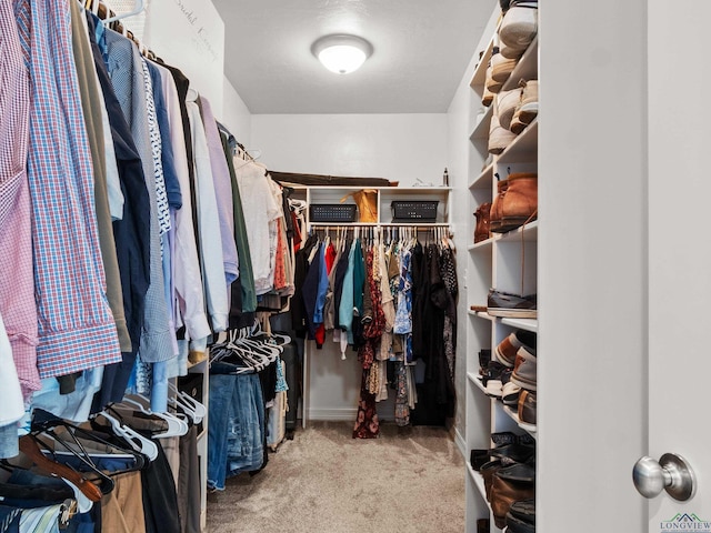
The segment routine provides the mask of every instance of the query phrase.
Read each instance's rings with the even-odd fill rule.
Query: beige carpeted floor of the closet
[[[357,440],[350,422],[312,422],[254,476],[208,495],[210,533],[464,531],[464,467],[448,432],[382,424]]]

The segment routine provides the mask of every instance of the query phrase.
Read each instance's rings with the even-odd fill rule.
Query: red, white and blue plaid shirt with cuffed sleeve
[[[14,0],[30,71],[32,202],[40,378],[121,361],[97,235],[91,153],[66,0]]]

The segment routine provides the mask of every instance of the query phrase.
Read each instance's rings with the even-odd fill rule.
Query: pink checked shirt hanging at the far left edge
[[[0,275],[0,314],[22,392],[29,395],[40,388],[27,175],[30,78],[11,2],[0,2],[0,270],[6,273]]]

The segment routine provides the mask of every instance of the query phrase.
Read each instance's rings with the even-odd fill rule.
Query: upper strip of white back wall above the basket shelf
[[[254,114],[251,148],[281,172],[439,185],[447,114]]]

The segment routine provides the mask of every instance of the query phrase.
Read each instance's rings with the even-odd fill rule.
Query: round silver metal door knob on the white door
[[[659,461],[642,457],[634,463],[632,479],[644,497],[655,497],[662,490],[680,502],[693,496],[695,479],[689,463],[675,453],[665,453]]]

